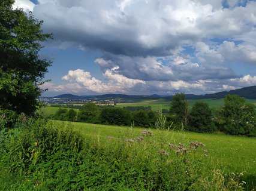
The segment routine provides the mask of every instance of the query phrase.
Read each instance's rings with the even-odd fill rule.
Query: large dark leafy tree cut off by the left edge
[[[50,61],[39,58],[40,42],[52,35],[32,13],[13,10],[14,0],[0,2],[0,109],[32,115],[38,108],[39,85]]]

